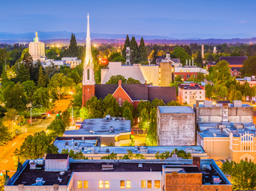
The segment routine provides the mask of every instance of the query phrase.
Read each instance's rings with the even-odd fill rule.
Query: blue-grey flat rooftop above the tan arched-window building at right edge
[[[219,129],[217,125],[220,125]],[[198,128],[200,129],[199,134],[201,137],[229,137],[230,133],[233,134],[233,137],[240,137],[246,132],[255,136],[256,133],[255,125],[250,122],[242,124],[233,124],[230,122],[198,124]]]

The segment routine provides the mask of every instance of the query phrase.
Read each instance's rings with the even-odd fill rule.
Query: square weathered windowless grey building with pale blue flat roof
[[[157,107],[157,143],[160,146],[195,145],[196,113],[189,106]]]

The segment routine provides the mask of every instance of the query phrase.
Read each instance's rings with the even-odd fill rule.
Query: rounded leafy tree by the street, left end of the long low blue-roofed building
[[[45,131],[35,133],[33,136],[29,135],[25,138],[20,149],[15,153],[23,159],[37,159],[42,158],[48,148],[48,145],[52,142],[52,138],[49,137]]]

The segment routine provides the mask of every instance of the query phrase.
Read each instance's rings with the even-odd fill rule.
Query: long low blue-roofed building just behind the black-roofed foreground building
[[[207,153],[201,146],[107,146],[99,144],[101,137],[57,137],[54,145],[59,148],[59,152],[63,149],[73,150],[74,153],[82,152],[85,157],[100,159],[109,153],[116,153],[117,158],[122,158],[128,154],[128,150],[133,152],[134,158],[136,154],[142,154],[145,159],[155,159],[156,153],[173,152],[174,149],[182,150],[190,153],[192,157],[208,158]]]

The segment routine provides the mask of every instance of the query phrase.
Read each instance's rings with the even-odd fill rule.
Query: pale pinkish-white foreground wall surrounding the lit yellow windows
[[[154,188],[154,181],[161,180],[161,172],[136,172],[134,169],[133,172],[76,172],[74,173],[74,191],[81,189],[77,188],[78,180],[87,180],[88,189],[86,190],[103,190],[99,189],[99,180],[109,180],[109,189],[108,190],[148,190],[147,188],[142,188],[142,180],[152,180],[152,189],[160,191],[161,188]],[[120,189],[120,180],[131,181],[131,188],[122,188]],[[105,185],[104,185],[105,189]]]

